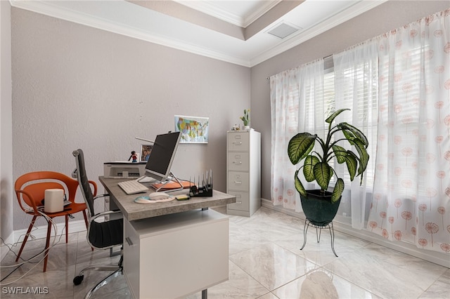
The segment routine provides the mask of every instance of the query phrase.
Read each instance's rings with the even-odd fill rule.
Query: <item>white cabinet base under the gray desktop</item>
[[[124,221],[124,275],[135,298],[180,298],[229,279],[229,218],[190,215],[197,219],[178,225],[173,215],[149,219],[150,230]]]

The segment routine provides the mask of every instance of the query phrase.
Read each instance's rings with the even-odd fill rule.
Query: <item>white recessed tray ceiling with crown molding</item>
[[[252,67],[387,0],[10,1],[18,8]],[[269,34],[282,24],[297,30],[283,39]]]

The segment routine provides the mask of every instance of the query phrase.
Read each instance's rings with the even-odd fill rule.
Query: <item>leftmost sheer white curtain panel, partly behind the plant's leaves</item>
[[[323,60],[276,74],[270,78],[270,86],[271,200],[274,205],[302,211],[294,187],[296,166],[290,163],[288,143],[296,133],[314,130],[314,115],[323,115],[323,105],[316,107],[314,102],[315,98],[323,99]]]

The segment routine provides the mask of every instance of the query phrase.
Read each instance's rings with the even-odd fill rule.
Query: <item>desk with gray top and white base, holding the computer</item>
[[[136,204],[120,179],[99,180],[124,214],[124,276],[134,298],[181,298],[229,279],[229,218],[209,209],[236,197]]]

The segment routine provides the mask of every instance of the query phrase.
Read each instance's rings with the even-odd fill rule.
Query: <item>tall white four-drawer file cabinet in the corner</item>
[[[236,196],[226,213],[250,217],[261,206],[261,133],[226,134],[226,193]]]

